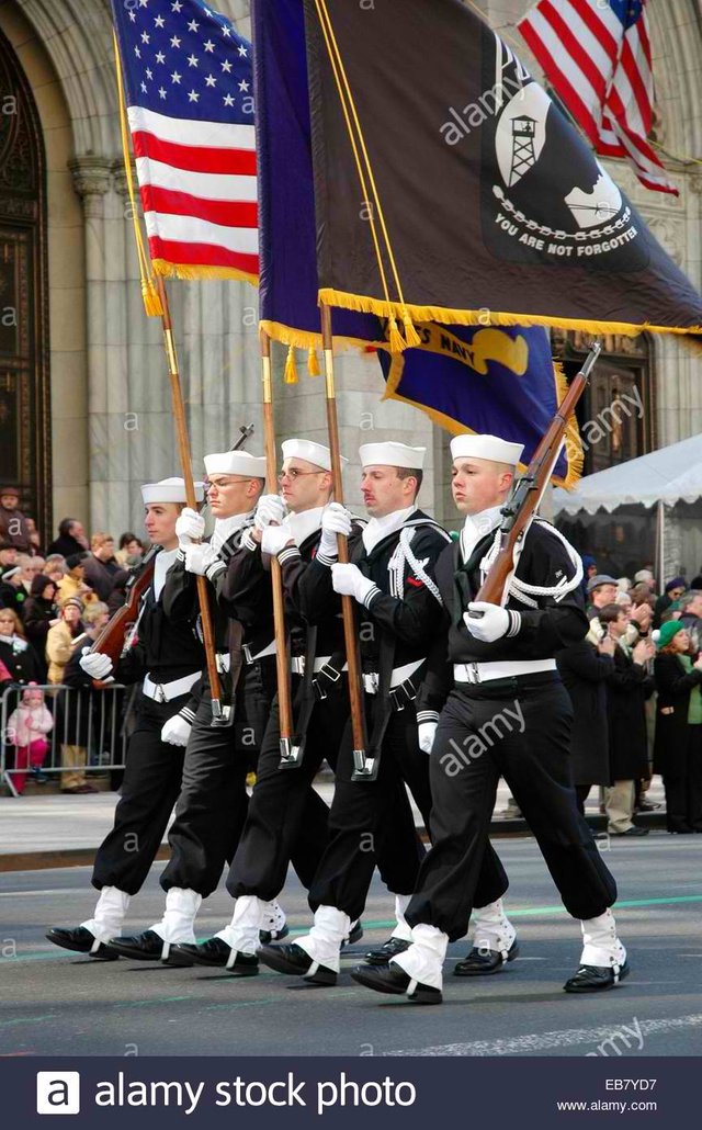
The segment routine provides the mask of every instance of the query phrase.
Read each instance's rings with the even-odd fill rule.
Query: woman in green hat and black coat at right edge
[[[692,660],[679,620],[666,620],[653,640],[653,768],[664,779],[668,832],[702,832],[702,653]]]

